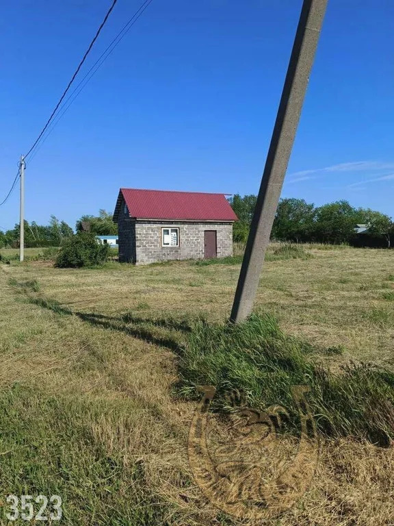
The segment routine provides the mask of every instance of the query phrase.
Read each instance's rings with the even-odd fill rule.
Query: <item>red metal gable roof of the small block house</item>
[[[237,221],[225,194],[120,188],[114,213],[117,221],[122,196],[131,217],[187,221]]]

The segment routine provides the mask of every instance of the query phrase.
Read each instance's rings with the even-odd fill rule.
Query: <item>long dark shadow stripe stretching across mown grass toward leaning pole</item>
[[[169,331],[188,332],[191,331],[191,327],[187,321],[177,321],[172,318],[142,318],[140,316],[133,316],[131,313],[122,314],[120,316],[107,316],[106,314],[96,314],[94,312],[79,312],[64,307],[59,302],[53,299],[44,299],[42,297],[34,298],[28,296],[29,303],[38,305],[41,308],[45,308],[55,312],[56,314],[66,316],[77,316],[82,321],[95,325],[96,327],[102,327],[103,329],[109,329],[114,331],[124,332],[133,338],[144,340],[160,347],[166,347],[176,351],[179,348],[179,340],[170,335],[159,336],[154,334],[155,328],[168,329]],[[137,325],[133,327],[127,325]],[[144,327],[146,325],[146,327]]]

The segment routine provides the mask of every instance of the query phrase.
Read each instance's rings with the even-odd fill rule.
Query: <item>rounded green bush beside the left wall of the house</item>
[[[94,234],[79,232],[62,243],[55,260],[59,268],[102,265],[109,257],[109,245],[101,245]]]

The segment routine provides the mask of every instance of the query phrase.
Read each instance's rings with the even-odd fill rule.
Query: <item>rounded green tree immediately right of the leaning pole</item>
[[[315,206],[304,199],[280,199],[272,238],[296,242],[308,240],[313,231],[315,213]]]

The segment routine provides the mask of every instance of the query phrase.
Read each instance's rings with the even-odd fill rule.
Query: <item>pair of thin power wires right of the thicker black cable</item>
[[[33,155],[31,156],[30,161],[34,158],[34,156],[36,155],[36,153],[38,152],[40,147],[44,144],[44,142],[47,140],[49,135],[53,132],[53,129],[55,128],[57,123],[60,121],[62,116],[66,113],[68,108],[70,108],[70,105],[73,104],[75,99],[77,99],[79,93],[81,93],[83,88],[85,88],[86,84],[88,84],[90,79],[96,74],[96,72],[99,70],[99,68],[101,68],[101,66],[103,65],[105,60],[107,60],[107,58],[112,53],[112,51],[114,51],[116,46],[118,46],[118,44],[120,44],[121,40],[124,38],[124,36],[127,35],[129,30],[131,29],[131,27],[133,27],[135,22],[137,22],[138,18],[140,18],[140,16],[144,13],[146,8],[148,8],[148,5],[150,5],[150,3],[152,3],[152,1],[153,0],[145,0],[142,3],[142,5],[140,5],[140,8],[138,8],[137,11],[133,14],[133,16],[131,16],[129,21],[127,21],[127,23],[122,27],[120,32],[116,35],[116,37],[109,43],[109,45],[106,47],[106,49],[103,51],[103,53],[101,53],[101,55],[96,60],[96,62],[94,62],[94,64],[89,69],[89,71],[86,73],[86,75],[83,77],[83,79],[81,79],[81,81],[77,84],[77,86],[75,86],[73,92],[71,92],[70,95],[68,95],[67,99],[62,103],[62,106],[60,108],[60,110],[64,109],[64,111],[62,113],[60,113],[60,115],[57,114],[57,118],[55,119],[55,121],[51,122],[51,124],[49,125],[48,129],[46,130],[46,133],[42,134],[43,136],[41,136],[36,141],[36,143],[35,143],[36,150],[34,151]],[[92,73],[92,74],[90,75],[90,73]],[[79,86],[81,86],[81,88],[78,90]],[[68,101],[70,101],[70,103],[67,105]],[[31,150],[32,149],[34,149],[34,147],[32,147]]]

